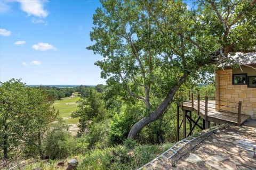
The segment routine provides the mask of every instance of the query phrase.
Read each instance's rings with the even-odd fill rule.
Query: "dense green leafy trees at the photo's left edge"
[[[13,150],[17,147],[25,148],[25,154],[42,156],[41,140],[58,116],[51,107],[53,100],[43,89],[26,87],[14,79],[2,83],[0,94],[0,146],[4,158],[17,154]],[[28,147],[31,145],[36,147]]]

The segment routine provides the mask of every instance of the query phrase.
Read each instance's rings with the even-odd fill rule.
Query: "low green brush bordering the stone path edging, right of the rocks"
[[[171,143],[167,143],[137,145],[132,150],[125,146],[95,149],[83,155],[84,158],[78,169],[137,169],[171,146]]]

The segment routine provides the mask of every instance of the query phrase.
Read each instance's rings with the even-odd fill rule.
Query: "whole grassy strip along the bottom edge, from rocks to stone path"
[[[137,145],[133,149],[129,149],[124,145],[119,145],[104,149],[94,149],[87,151],[85,154],[74,154],[73,156],[77,156],[79,163],[77,170],[130,170],[137,169],[142,165],[145,165],[172,146],[173,143],[164,143],[162,145]],[[36,167],[42,167],[45,170],[64,170],[67,167],[68,160],[73,159],[73,156],[69,156],[66,159],[38,160],[37,162],[27,165],[24,169],[28,170]],[[65,166],[63,168],[57,168],[55,166],[59,161],[65,162]]]

